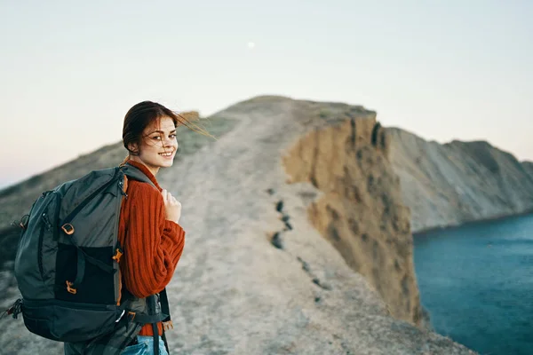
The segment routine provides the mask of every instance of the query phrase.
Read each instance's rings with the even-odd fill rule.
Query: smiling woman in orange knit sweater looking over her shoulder
[[[160,293],[171,281],[183,252],[185,232],[179,225],[181,203],[155,178],[160,168],[172,166],[178,150],[176,128],[181,124],[210,136],[185,117],[155,102],[140,102],[124,117],[123,146],[129,154],[121,165],[140,170],[152,184],[129,178],[124,187],[126,198],[123,199],[118,227],[118,241],[123,246],[119,263],[123,302],[144,301],[148,296]],[[147,303],[144,303],[145,307]],[[135,313],[132,314],[135,317]],[[162,335],[163,328],[169,327],[171,322],[133,327],[133,331],[139,333],[133,341],[125,342],[128,344],[122,354],[159,352],[166,355]],[[159,336],[154,336],[155,331]],[[111,342],[116,337],[109,336]],[[93,351],[114,353],[107,345],[98,349]],[[76,344],[65,343],[65,353],[83,352],[76,350]]]

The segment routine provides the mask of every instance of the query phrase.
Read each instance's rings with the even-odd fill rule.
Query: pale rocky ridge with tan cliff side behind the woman
[[[182,202],[187,230],[168,288],[174,352],[471,353],[415,326],[410,215],[375,113],[259,97],[210,122],[220,138],[179,131],[180,145],[192,148],[158,175]],[[20,214],[46,186],[123,154],[109,146],[58,168],[53,182],[13,186],[0,193],[0,207]],[[12,280],[5,283],[3,304],[17,296]],[[20,320],[3,326],[7,353],[60,353],[59,343],[31,335]]]

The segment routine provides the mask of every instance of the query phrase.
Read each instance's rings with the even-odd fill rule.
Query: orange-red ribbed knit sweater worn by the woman
[[[161,292],[171,281],[183,251],[185,232],[165,219],[162,188],[155,176],[139,162],[128,163],[141,170],[159,190],[129,179],[118,225],[118,241],[124,250],[121,280],[133,296],[144,298]],[[161,322],[157,327],[162,335]],[[139,335],[154,335],[152,325],[142,327]]]

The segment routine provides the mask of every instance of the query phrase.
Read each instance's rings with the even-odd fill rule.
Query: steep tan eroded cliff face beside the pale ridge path
[[[375,114],[348,112],[299,139],[283,162],[291,182],[321,192],[308,210],[312,225],[370,281],[394,317],[418,324],[410,214],[388,151]]]

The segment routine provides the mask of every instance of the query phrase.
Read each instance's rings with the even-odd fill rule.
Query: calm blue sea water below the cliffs
[[[414,236],[434,330],[481,354],[533,354],[533,215]]]

